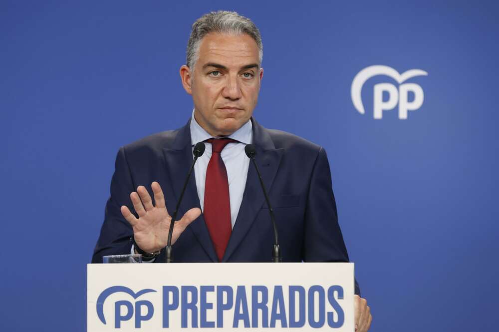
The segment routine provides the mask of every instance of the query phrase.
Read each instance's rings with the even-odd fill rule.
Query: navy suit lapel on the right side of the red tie
[[[260,170],[265,188],[267,192],[270,192],[284,149],[275,149],[266,129],[260,126],[253,118],[251,120],[253,122],[253,144],[256,149],[255,161]],[[227,262],[241,241],[243,241],[264,201],[265,196],[260,187],[258,174],[254,169],[253,163],[250,162],[243,202],[241,203],[238,218],[222,262]],[[270,261],[270,248],[268,252],[268,260]]]

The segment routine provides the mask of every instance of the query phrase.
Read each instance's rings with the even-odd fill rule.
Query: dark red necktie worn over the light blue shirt
[[[206,141],[212,144],[212,157],[206,169],[203,215],[219,261],[222,261],[231,237],[232,223],[229,180],[220,153],[227,144],[237,141],[230,138],[210,138]]]

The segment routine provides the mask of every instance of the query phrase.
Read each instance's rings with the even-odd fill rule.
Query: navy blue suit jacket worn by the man
[[[303,138],[269,130],[254,118],[253,144],[256,162],[274,209],[283,262],[348,262],[331,187],[326,152]],[[120,207],[132,212],[130,193],[143,185],[151,196],[151,183],[163,189],[167,209],[173,213],[192,163],[189,122],[178,130],[165,131],[121,147],[116,157],[105,219],[92,263],[102,256],[128,254],[132,227]],[[200,207],[193,173],[179,216]],[[222,262],[270,262],[272,223],[253,165],[229,244]],[[164,250],[156,262],[164,262]],[[203,215],[192,222],[173,245],[175,262],[218,262]],[[356,283],[356,293],[359,293]]]

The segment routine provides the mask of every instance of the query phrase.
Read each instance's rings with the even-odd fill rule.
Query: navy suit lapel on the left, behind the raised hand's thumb
[[[179,130],[172,147],[163,149],[163,154],[165,156],[165,165],[170,177],[173,193],[175,195],[175,199],[178,201],[184,186],[187,172],[189,171],[189,167],[191,167],[193,160],[190,121],[186,126]],[[174,212],[173,209],[175,208],[175,205],[172,206],[172,211],[168,211],[170,214],[173,214]],[[182,199],[182,203],[179,207],[177,220],[182,218],[184,213],[186,213],[189,209],[195,207],[201,208],[201,204],[199,203],[198,190],[196,189],[196,178],[193,171],[191,178],[189,179],[189,183],[187,184],[184,198]],[[201,216],[193,221],[187,228],[194,233],[211,260],[218,262],[217,254],[215,253],[203,214],[201,214]]]

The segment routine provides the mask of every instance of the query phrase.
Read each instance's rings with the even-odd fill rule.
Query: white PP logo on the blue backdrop
[[[352,102],[360,114],[365,114],[362,104],[362,86],[371,77],[377,75],[386,75],[395,79],[400,85],[398,88],[391,83],[379,83],[374,85],[374,118],[381,119],[383,111],[393,109],[399,105],[399,119],[407,119],[408,111],[417,110],[423,105],[425,94],[421,86],[415,83],[404,83],[409,78],[415,76],[426,76],[428,73],[421,69],[411,69],[402,74],[397,70],[383,65],[374,65],[362,69],[355,75],[350,90]],[[404,83],[404,84],[402,84]],[[383,92],[388,92],[388,100],[383,101]],[[414,100],[409,101],[409,92],[414,93]]]

